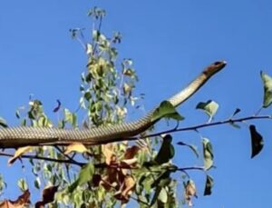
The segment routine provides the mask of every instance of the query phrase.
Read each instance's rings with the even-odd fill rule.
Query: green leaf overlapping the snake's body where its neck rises
[[[163,101],[160,103],[160,106],[155,109],[152,114],[151,122],[156,122],[161,118],[171,118],[177,121],[181,121],[184,119],[174,108],[169,101]]]

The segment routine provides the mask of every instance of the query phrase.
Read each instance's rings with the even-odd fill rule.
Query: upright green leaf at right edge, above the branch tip
[[[272,77],[260,72],[264,84],[263,107],[267,108],[272,103]]]

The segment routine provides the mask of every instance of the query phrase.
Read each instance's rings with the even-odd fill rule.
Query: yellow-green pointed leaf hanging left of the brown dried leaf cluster
[[[76,189],[77,186],[81,186],[84,183],[87,183],[90,180],[92,180],[93,173],[94,173],[93,163],[87,163],[86,165],[84,165],[81,172],[79,173],[77,180],[75,180],[75,182],[73,182],[68,187],[69,193],[73,193],[73,190]]]

